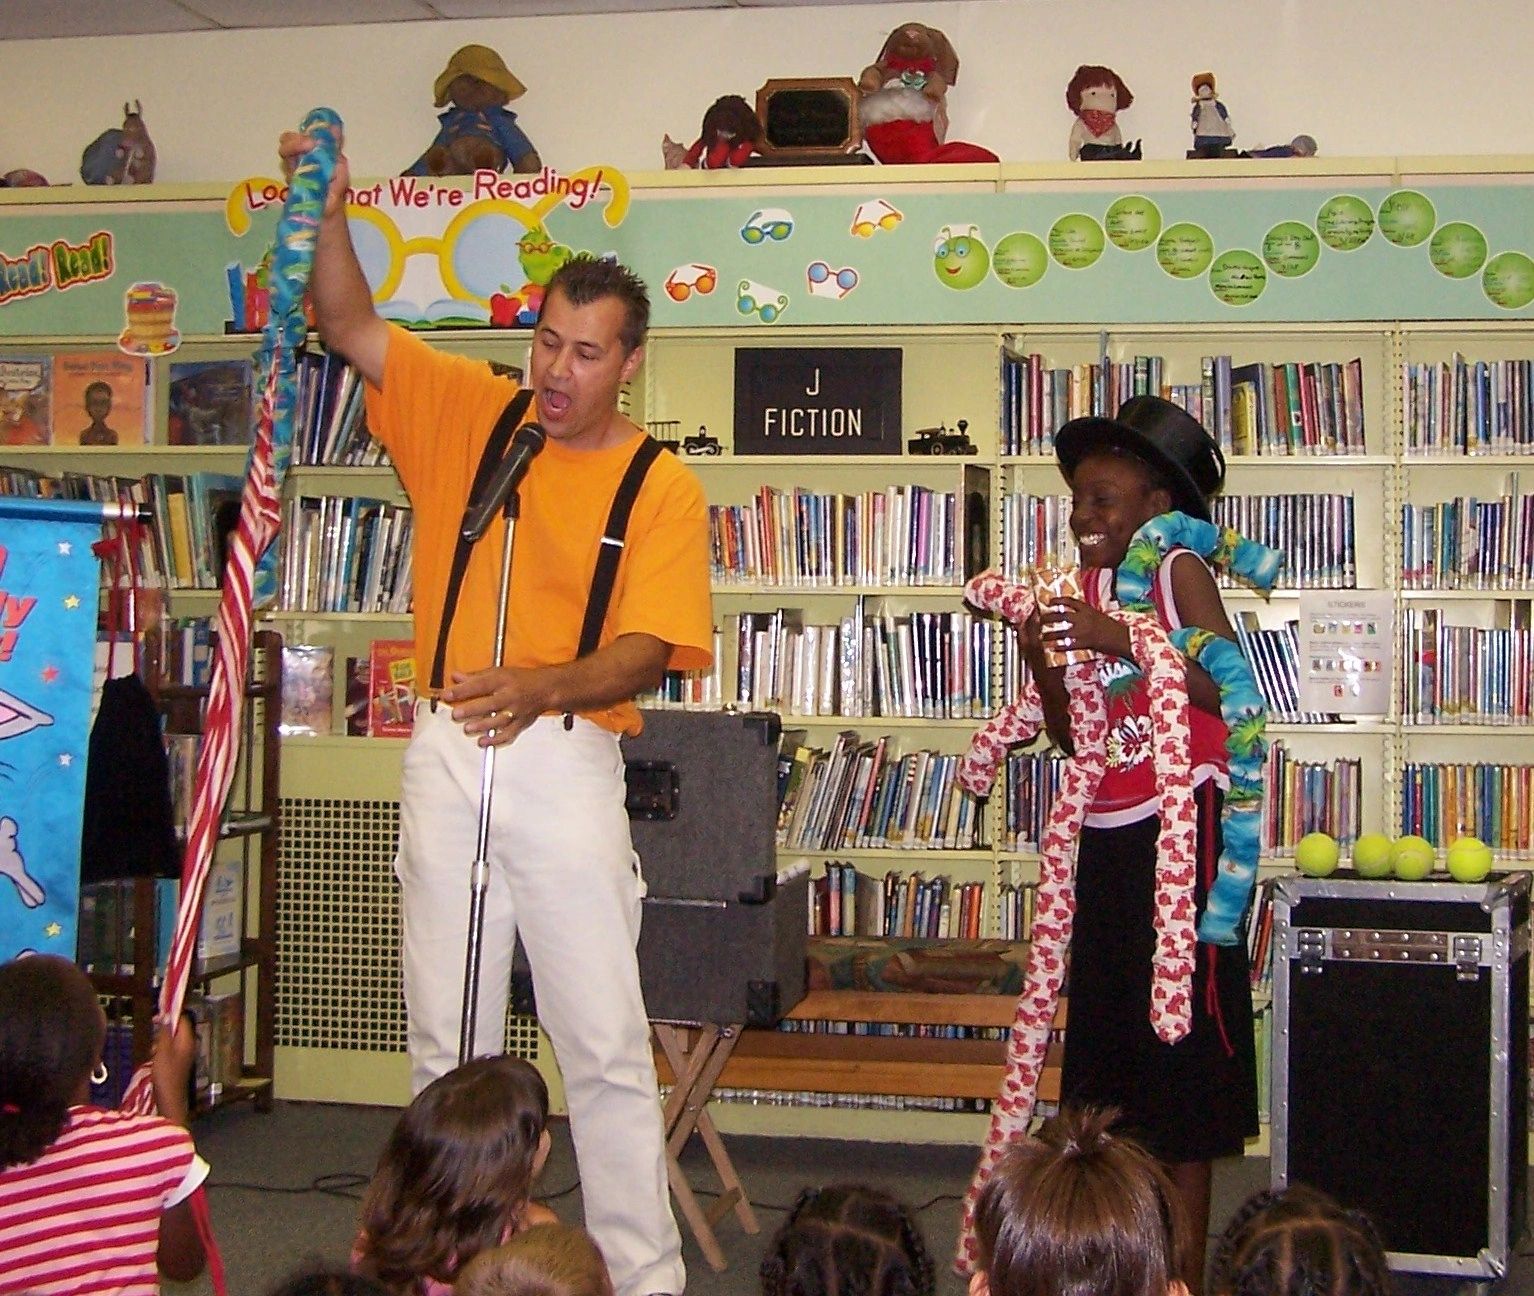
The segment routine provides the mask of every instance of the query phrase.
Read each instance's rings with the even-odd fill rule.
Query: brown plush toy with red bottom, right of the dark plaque
[[[948,140],[948,87],[959,55],[937,28],[905,23],[858,78],[864,143],[881,163],[994,163],[989,149]]]

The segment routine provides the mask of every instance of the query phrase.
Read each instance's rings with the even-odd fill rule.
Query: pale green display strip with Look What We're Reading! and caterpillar
[[[1083,167],[1035,184],[927,170],[632,193],[600,166],[397,176],[353,189],[348,218],[379,310],[420,330],[528,327],[574,253],[637,270],[669,328],[1534,317],[1526,175],[1140,181]],[[281,196],[252,178],[176,210],[6,206],[0,331],[109,334],[147,354],[253,333]]]

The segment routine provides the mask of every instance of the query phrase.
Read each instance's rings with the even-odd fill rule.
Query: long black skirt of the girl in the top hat
[[[1203,914],[1220,857],[1223,796],[1210,781],[1195,801]],[[1081,831],[1062,1098],[1120,1107],[1120,1129],[1161,1161],[1210,1161],[1241,1153],[1258,1132],[1252,982],[1244,945],[1198,942],[1192,1031],[1175,1044],[1157,1038],[1150,954],[1160,827],[1152,814]]]

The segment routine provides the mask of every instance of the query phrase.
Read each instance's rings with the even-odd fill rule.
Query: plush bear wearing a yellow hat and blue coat
[[[502,57],[485,44],[465,44],[448,60],[433,87],[437,107],[451,103],[437,121],[437,138],[405,175],[472,175],[477,170],[535,172],[538,150],[517,126],[506,104],[526,94]]]

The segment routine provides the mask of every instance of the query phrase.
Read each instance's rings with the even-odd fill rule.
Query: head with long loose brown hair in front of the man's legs
[[[549,1150],[548,1115],[543,1077],[522,1058],[477,1058],[422,1089],[362,1199],[359,1271],[414,1290],[506,1241]]]

